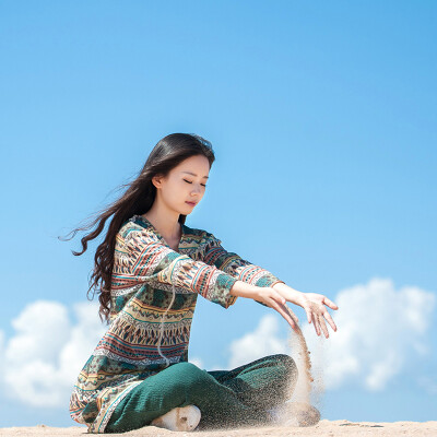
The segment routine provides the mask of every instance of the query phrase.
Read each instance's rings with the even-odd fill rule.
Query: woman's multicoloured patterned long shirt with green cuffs
[[[188,362],[198,295],[228,308],[237,299],[229,291],[238,280],[260,287],[283,282],[221,243],[182,224],[175,251],[142,215],[122,224],[116,236],[109,328],[70,398],[71,417],[86,424],[88,433],[104,433],[117,404],[145,378]]]

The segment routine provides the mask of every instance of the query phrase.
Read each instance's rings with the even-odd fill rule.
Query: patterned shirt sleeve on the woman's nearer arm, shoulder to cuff
[[[179,286],[224,308],[235,303],[237,296],[229,292],[237,279],[215,265],[172,250],[152,232],[130,232],[126,245],[131,256],[130,271],[135,281],[157,281]]]

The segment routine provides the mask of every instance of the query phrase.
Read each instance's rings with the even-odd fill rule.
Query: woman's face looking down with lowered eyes
[[[210,162],[203,155],[190,156],[173,168],[167,177],[155,176],[156,197],[165,206],[188,215],[205,192]]]

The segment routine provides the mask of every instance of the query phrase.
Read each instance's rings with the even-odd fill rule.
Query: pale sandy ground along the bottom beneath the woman
[[[34,437],[34,436],[83,436],[86,426],[71,426],[56,428],[46,425],[31,427],[0,428],[1,437]],[[347,422],[347,421],[327,421],[322,420],[317,425],[310,427],[286,427],[286,426],[265,426],[257,428],[238,428],[224,430],[202,430],[191,433],[178,433],[155,426],[145,426],[140,429],[123,434],[108,434],[110,436],[202,436],[202,437],[256,437],[256,436],[437,436],[437,422],[393,422],[393,423],[373,423],[373,422]]]

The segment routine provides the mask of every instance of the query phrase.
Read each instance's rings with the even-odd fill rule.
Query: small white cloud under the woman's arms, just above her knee
[[[241,366],[265,355],[287,353],[286,340],[279,339],[277,331],[277,317],[273,314],[263,316],[253,332],[231,343],[227,368]]]

